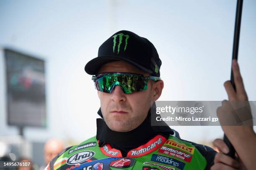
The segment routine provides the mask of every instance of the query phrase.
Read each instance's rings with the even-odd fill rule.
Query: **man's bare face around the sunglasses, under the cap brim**
[[[100,68],[104,72],[131,72],[150,76],[132,65],[123,62],[108,62]],[[103,118],[111,130],[128,132],[137,128],[147,117],[148,110],[154,102],[154,82],[148,81],[147,90],[125,94],[119,85],[112,93],[98,91]]]

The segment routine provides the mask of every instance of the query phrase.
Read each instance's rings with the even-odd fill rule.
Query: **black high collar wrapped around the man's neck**
[[[156,105],[154,103],[151,109],[155,108]],[[166,139],[168,139],[169,135],[174,135],[174,131],[165,122],[161,126],[151,126],[151,109],[141,125],[129,132],[116,132],[108,128],[99,109],[98,115],[102,117],[102,119],[97,119],[96,138],[99,140],[99,146],[109,143],[112,148],[120,150],[123,157],[125,157],[129,150],[138,148],[158,134],[163,135]]]

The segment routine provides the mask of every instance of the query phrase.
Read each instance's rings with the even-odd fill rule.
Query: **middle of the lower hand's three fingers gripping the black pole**
[[[240,164],[237,160],[225,155],[224,153],[217,153],[214,158],[214,163],[224,163],[225,165],[229,165],[233,168],[239,168]]]

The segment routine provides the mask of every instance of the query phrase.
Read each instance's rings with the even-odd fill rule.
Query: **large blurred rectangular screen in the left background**
[[[4,49],[8,125],[46,127],[44,60]]]

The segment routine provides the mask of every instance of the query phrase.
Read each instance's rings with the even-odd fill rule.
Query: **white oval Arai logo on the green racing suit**
[[[93,151],[88,151],[88,150],[76,153],[76,154],[72,155],[67,160],[67,164],[74,165],[74,164],[77,164],[77,163],[82,163],[85,160],[88,160],[88,159],[92,158],[93,155],[95,155],[95,153]]]

